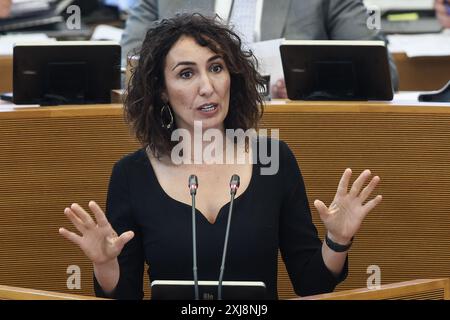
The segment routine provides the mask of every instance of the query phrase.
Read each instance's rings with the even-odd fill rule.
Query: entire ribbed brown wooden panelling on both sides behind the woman
[[[346,167],[380,175],[382,204],[364,222],[338,290],[450,274],[450,110],[417,106],[274,105],[263,127],[280,129],[300,164],[310,204],[329,203]],[[104,206],[112,165],[138,144],[117,106],[0,112],[0,284],[92,294],[92,268],[58,234],[63,210]],[[321,237],[324,229],[312,208]],[[81,290],[68,290],[78,265]],[[280,264],[281,270],[283,266]],[[285,272],[280,297],[293,297]]]

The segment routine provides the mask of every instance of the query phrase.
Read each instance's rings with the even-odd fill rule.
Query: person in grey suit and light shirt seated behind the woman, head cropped
[[[247,42],[278,38],[385,40],[378,30],[367,26],[368,11],[361,0],[135,0],[122,36],[122,64],[126,64],[127,55],[139,50],[153,22],[193,11],[219,14]],[[397,90],[398,73],[391,56],[389,64]],[[287,98],[284,79],[276,81],[271,94],[273,98]]]

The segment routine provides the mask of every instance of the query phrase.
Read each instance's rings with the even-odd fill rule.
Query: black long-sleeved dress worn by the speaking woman
[[[347,262],[337,278],[325,266],[300,169],[282,141],[279,160],[274,175],[262,175],[263,165],[254,164],[247,189],[234,201],[224,281],[262,281],[268,298],[277,299],[280,249],[298,295],[331,292],[345,279]],[[229,192],[226,186],[211,187]],[[199,280],[219,278],[228,210],[229,203],[214,224],[197,211]],[[145,149],[115,164],[106,212],[118,234],[135,233],[118,258],[120,279],[113,298],[142,299],[144,262],[150,281],[192,280],[191,207],[164,192]],[[105,296],[95,277],[94,287],[97,296]]]

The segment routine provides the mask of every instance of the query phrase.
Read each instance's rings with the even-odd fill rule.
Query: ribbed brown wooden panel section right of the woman
[[[329,204],[347,167],[353,179],[366,168],[381,177],[383,201],[357,234],[338,290],[365,287],[370,265],[380,267],[382,284],[450,275],[448,114],[277,113],[264,125],[280,127],[293,149],[322,238],[314,200]]]

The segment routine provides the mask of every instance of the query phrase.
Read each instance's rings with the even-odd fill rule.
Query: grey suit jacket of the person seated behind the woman
[[[214,0],[137,0],[122,37],[123,61],[139,48],[153,21],[177,12],[212,14]],[[361,0],[264,0],[261,40],[385,40],[367,27]],[[397,69],[390,57],[391,78],[398,88]]]

